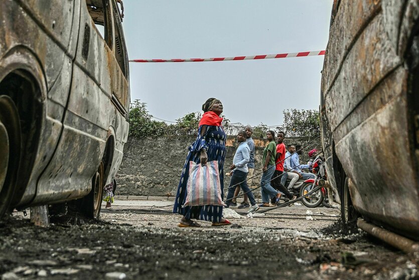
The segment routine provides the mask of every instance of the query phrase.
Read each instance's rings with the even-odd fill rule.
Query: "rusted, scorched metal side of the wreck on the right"
[[[341,1],[330,28],[321,98],[328,173],[334,174],[338,160],[351,179],[356,210],[416,239],[419,176],[411,127],[418,105],[409,95],[418,92],[409,88],[405,52],[418,7],[417,1]]]

